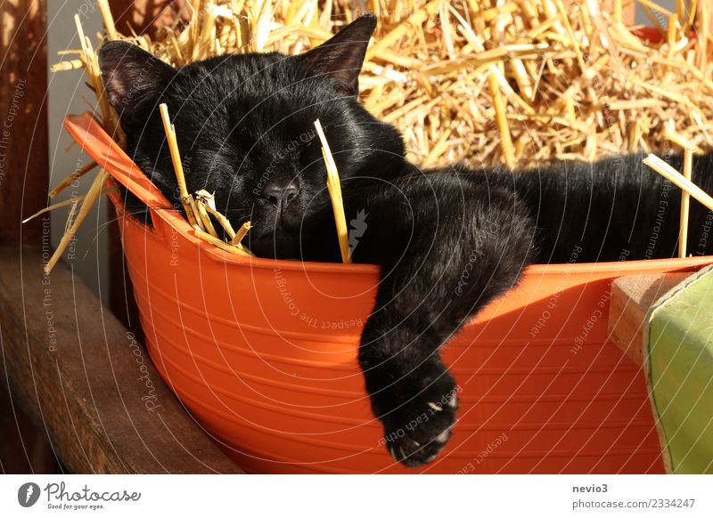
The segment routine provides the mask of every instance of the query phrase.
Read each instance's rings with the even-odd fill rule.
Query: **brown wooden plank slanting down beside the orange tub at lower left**
[[[38,248],[0,248],[0,380],[73,473],[241,473],[143,345]]]

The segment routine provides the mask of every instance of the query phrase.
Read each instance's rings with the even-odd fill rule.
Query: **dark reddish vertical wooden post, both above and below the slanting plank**
[[[46,16],[45,0],[0,3],[0,244],[5,245],[39,246],[42,237],[40,220],[21,221],[47,200]],[[44,434],[0,392],[3,473],[54,473]]]

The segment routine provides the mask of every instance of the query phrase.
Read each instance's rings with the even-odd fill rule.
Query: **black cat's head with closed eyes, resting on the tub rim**
[[[382,176],[404,160],[397,131],[357,100],[375,24],[363,16],[298,56],[229,54],[182,69],[126,42],[103,45],[99,63],[127,153],[169,200],[179,200],[159,113],[167,103],[188,190],[215,192],[234,226],[250,220],[249,246],[258,256],[298,257],[300,232],[330,214],[316,119],[342,181]]]

